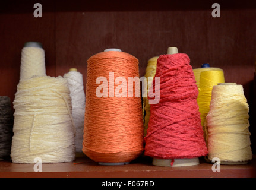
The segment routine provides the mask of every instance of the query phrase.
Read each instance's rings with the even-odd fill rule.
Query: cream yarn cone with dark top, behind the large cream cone
[[[26,42],[21,50],[20,79],[46,76],[45,50],[40,42]]]

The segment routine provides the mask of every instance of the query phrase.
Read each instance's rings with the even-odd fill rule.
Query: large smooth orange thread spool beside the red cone
[[[87,60],[83,152],[99,164],[129,164],[143,151],[140,94],[135,97],[140,89],[133,85],[134,96],[127,95],[128,77],[138,76],[138,59],[120,49],[106,49]]]

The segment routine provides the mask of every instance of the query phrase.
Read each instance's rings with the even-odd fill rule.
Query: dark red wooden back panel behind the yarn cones
[[[35,18],[40,2],[43,17]],[[193,68],[208,62],[222,68],[226,82],[244,86],[250,106],[251,142],[255,152],[256,122],[253,80],[256,56],[256,1],[219,1],[220,18],[211,17],[214,1],[5,1],[0,7],[0,96],[14,100],[21,49],[42,42],[46,72],[64,75],[75,67],[84,76],[87,59],[116,47],[147,61],[176,46]]]

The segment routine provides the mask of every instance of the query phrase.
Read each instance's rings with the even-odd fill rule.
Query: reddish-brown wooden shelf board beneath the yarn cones
[[[142,157],[123,166],[100,166],[87,157],[74,162],[43,164],[42,172],[34,172],[34,164],[0,162],[0,178],[256,178],[256,157],[244,165],[220,165],[213,172],[213,164],[200,159],[197,166],[161,167],[151,165]]]

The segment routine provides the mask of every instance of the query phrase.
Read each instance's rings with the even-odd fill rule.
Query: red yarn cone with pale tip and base
[[[167,55],[157,59],[156,77],[160,77],[160,101],[150,105],[150,120],[145,139],[145,155],[156,166],[192,166],[207,155],[190,59],[169,47]],[[153,89],[155,88],[153,80]]]

